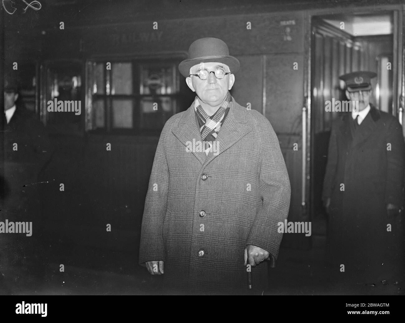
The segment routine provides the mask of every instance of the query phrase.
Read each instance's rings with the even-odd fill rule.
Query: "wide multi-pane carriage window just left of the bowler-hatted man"
[[[177,112],[181,59],[87,63],[86,129],[158,134]]]

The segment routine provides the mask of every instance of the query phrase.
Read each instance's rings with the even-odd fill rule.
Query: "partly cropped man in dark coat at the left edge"
[[[4,179],[0,197],[0,271],[5,277],[22,283],[40,272],[43,264],[38,174],[52,153],[43,124],[23,106],[19,99],[18,79],[12,73],[4,76]],[[5,230],[6,220],[32,222],[29,235]],[[26,226],[26,230],[27,226]]]

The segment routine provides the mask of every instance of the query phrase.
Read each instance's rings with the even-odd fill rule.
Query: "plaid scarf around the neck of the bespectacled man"
[[[212,116],[209,116],[201,107],[200,102],[196,97],[194,100],[194,109],[196,111],[203,141],[215,141],[221,126],[224,124],[225,117],[228,114],[231,105],[232,97],[228,92],[224,101],[222,101],[220,108]]]

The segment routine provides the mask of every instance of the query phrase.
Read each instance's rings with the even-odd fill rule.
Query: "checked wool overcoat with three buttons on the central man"
[[[189,152],[193,140],[201,135],[192,104],[172,116],[160,135],[139,263],[163,260],[164,280],[173,289],[244,289],[245,246],[269,251],[274,261],[282,238],[277,223],[288,215],[290,181],[279,141],[264,116],[233,98],[217,136],[219,153]],[[265,285],[266,262],[252,268],[252,276],[256,286]]]

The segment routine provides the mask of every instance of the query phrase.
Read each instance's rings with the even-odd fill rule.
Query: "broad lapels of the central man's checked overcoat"
[[[192,152],[202,165],[211,162],[216,156],[230,148],[252,130],[252,127],[247,125],[244,113],[244,109],[239,106],[232,97],[232,106],[217,136],[217,151],[215,155],[213,150],[209,152],[208,156],[204,152]],[[193,139],[195,141],[201,141],[200,129],[198,129],[194,114],[193,102],[182,116],[179,125],[172,129],[173,134],[184,146],[188,146],[187,142],[193,142]]]

